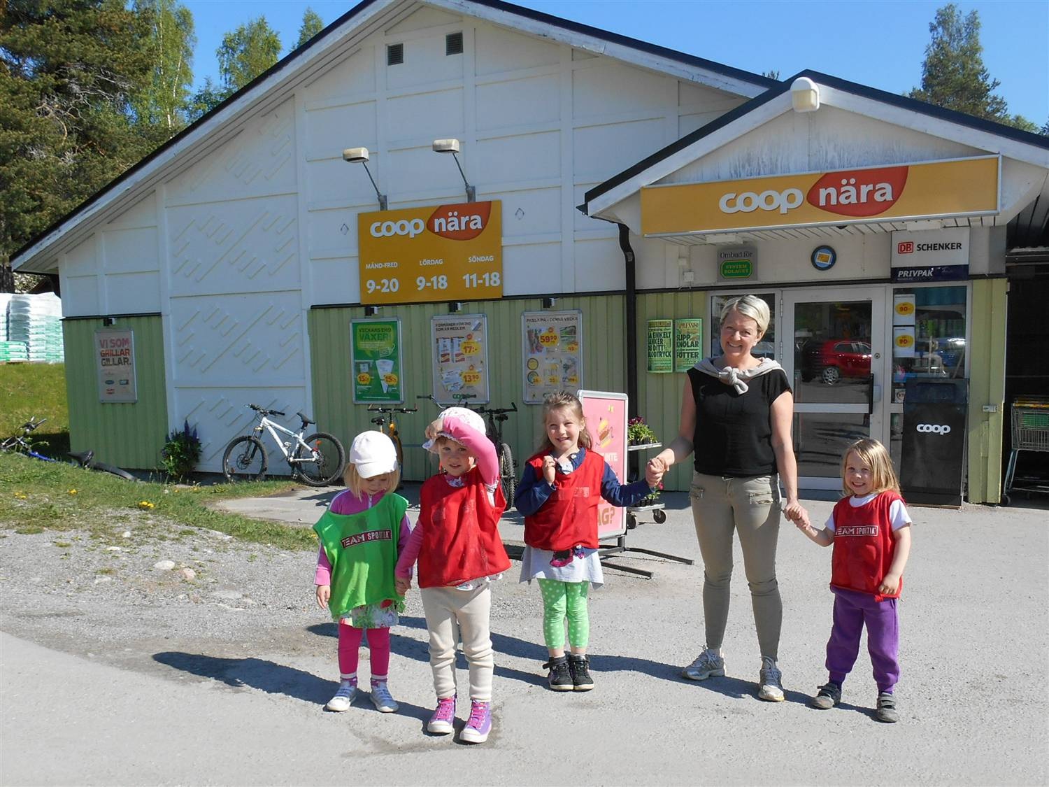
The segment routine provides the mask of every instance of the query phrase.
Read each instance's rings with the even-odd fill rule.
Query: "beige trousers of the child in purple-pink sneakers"
[[[423,588],[423,612],[430,632],[430,668],[437,699],[455,694],[455,643],[463,635],[463,653],[470,665],[470,699],[490,702],[495,656],[489,633],[492,592],[481,580],[472,591]]]

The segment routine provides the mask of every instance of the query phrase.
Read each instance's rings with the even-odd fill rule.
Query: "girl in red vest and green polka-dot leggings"
[[[604,583],[598,555],[597,508],[633,506],[659,487],[663,473],[649,464],[645,478],[620,485],[591,434],[579,400],[566,391],[543,403],[545,439],[524,467],[514,505],[524,516],[520,581],[538,580],[542,634],[550,660],[547,684],[555,692],[594,688],[586,659],[590,613],[586,593]],[[564,654],[568,619],[571,652]]]

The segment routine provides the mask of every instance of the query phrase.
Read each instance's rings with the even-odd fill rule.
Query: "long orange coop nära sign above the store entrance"
[[[843,169],[641,190],[644,235],[850,225],[999,211],[1000,158]]]

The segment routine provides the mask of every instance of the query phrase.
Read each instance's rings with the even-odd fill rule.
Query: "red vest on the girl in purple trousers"
[[[899,598],[903,577],[896,593],[878,593],[878,586],[889,573],[896,553],[893,524],[889,509],[903,499],[896,492],[884,491],[873,501],[853,507],[848,497],[834,506],[834,556],[831,558],[831,586],[871,593],[876,601]]]

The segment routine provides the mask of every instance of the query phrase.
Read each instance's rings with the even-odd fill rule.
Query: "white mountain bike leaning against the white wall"
[[[262,445],[263,429],[270,432],[277,449],[292,468],[293,477],[312,487],[324,487],[342,476],[346,465],[346,449],[334,434],[318,431],[304,438],[302,433],[306,427],[316,422],[301,412],[295,414],[302,419],[302,428],[294,432],[266,418],[266,416],[283,416],[280,410],[267,410],[257,404],[248,406],[259,413],[259,422],[253,429],[253,434],[234,438],[226,447],[226,453],[222,454],[222,472],[227,480],[256,481],[265,475],[270,458],[265,446]]]

